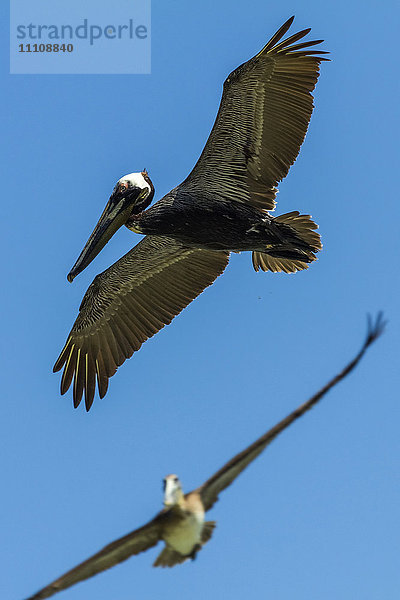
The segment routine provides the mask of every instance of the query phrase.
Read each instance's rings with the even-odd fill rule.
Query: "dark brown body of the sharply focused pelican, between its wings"
[[[301,218],[304,219],[304,215]],[[312,252],[320,249],[318,234],[313,232],[311,245],[311,240],[303,240],[283,223],[282,218],[276,219],[250,205],[232,202],[208,190],[204,190],[199,198],[177,187],[153,207],[133,215],[126,226],[136,233],[165,235],[185,246],[204,250],[265,252],[270,248],[270,256],[276,254],[283,258],[292,254],[293,258],[305,263],[314,260]]]

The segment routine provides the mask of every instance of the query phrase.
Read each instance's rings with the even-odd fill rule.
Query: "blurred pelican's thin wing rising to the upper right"
[[[202,499],[204,509],[209,510],[212,505],[218,500],[218,494],[227,488],[236,477],[249,465],[268,444],[272,442],[284,429],[289,427],[299,417],[304,415],[310,410],[317,402],[321,400],[323,396],[333,388],[339,381],[344,379],[359,363],[361,358],[364,356],[368,346],[370,346],[383,332],[385,322],[383,321],[382,313],[379,313],[375,323],[368,319],[368,331],[365,342],[359,351],[359,353],[349,362],[346,367],[333,379],[329,381],[323,388],[321,388],[312,398],[307,402],[296,408],[290,415],[280,421],[275,427],[272,427],[267,433],[261,436],[258,440],[251,444],[248,448],[240,452],[232,458],[225,466],[215,473],[210,479],[208,479],[202,486],[197,490]]]

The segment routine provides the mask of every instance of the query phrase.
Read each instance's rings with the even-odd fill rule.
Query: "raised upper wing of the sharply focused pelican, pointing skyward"
[[[323,40],[295,43],[310,29],[280,42],[293,18],[226,79],[214,127],[182,189],[207,187],[260,209],[275,207],[276,185],[297,158],[326,60],[314,56],[326,52],[308,49]]]

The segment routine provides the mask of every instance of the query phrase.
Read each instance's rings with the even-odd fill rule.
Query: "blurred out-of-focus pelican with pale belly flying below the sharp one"
[[[154,519],[143,527],[112,542],[28,600],[49,598],[79,581],[113,567],[134,554],[139,554],[156,546],[161,541],[165,542],[165,547],[156,558],[153,566],[173,567],[189,558],[194,559],[199,550],[209,541],[215,528],[216,522],[205,521],[204,515],[218,500],[220,492],[227,488],[272,440],[317,404],[332,387],[355,368],[368,346],[381,335],[384,325],[381,313],[375,323],[372,323],[369,319],[367,337],[355,358],[312,398],[296,408],[245,450],[234,456],[205,483],[192,492],[184,494],[178,477],[168,475],[164,479],[165,508]]]

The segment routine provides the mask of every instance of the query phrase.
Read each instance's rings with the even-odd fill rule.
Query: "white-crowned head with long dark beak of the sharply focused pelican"
[[[137,215],[148,207],[153,196],[154,187],[146,170],[121,177],[78,260],[68,273],[68,281],[73,281],[86,269],[114,233],[132,215]]]

